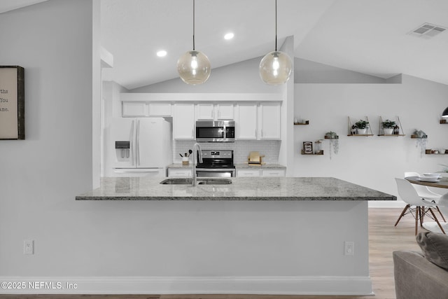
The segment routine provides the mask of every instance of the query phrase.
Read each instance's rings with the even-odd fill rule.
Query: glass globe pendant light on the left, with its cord
[[[210,76],[209,58],[204,53],[195,50],[195,0],[193,0],[193,50],[179,57],[177,71],[182,81],[190,85],[202,84]]]

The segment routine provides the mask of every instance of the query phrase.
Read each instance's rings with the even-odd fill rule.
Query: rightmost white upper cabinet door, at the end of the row
[[[279,103],[260,104],[260,139],[280,139],[280,113]]]

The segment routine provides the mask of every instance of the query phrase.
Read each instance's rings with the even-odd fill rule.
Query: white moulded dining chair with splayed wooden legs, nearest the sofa
[[[401,199],[406,202],[406,207],[402,210],[397,222],[395,222],[395,226],[398,225],[402,216],[411,214],[415,218],[415,235],[417,235],[417,223],[420,221],[420,225],[423,225],[423,217],[428,216],[433,219],[437,225],[439,225],[440,230],[445,233],[432,209],[437,207],[437,204],[423,200],[409,181],[398,178],[395,178],[395,181],[397,183],[398,195],[400,195]]]

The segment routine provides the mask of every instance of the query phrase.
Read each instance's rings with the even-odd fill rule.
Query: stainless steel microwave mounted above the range
[[[235,142],[235,120],[197,120],[196,141]]]

